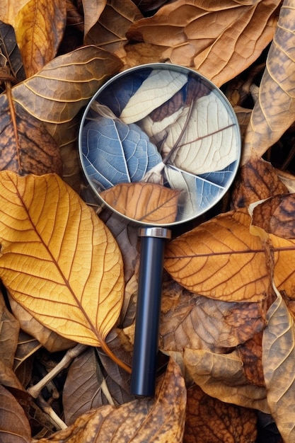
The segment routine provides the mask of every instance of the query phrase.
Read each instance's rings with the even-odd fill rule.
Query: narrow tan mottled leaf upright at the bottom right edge
[[[267,402],[284,443],[293,443],[295,326],[279,293],[268,311],[267,320],[262,340],[262,366],[267,387]]]

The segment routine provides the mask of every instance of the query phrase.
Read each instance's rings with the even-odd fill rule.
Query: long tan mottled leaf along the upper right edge
[[[267,64],[248,130],[245,134],[245,161],[254,150],[259,156],[284,134],[295,120],[294,23],[295,10],[285,0],[267,54]]]

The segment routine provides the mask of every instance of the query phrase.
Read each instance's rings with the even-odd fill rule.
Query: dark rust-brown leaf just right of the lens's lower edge
[[[271,163],[253,154],[241,167],[232,198],[235,207],[248,207],[250,203],[287,192]]]

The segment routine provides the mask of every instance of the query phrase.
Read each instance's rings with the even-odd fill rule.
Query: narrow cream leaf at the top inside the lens
[[[178,71],[153,69],[136,93],[129,99],[120,118],[125,123],[141,120],[163,105],[187,83],[187,75]]]

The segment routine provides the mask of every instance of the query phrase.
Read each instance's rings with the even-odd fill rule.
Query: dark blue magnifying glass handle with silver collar
[[[154,396],[164,250],[171,233],[169,229],[151,227],[140,229],[139,235],[139,288],[130,391],[135,396]]]

